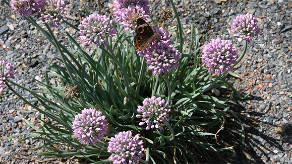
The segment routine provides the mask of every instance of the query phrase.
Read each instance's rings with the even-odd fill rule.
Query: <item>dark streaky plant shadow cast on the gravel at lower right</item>
[[[257,112],[257,109],[252,109],[250,106],[239,105],[239,102],[250,102],[251,100],[263,101],[260,97],[249,96],[246,100],[236,99],[236,102],[231,101],[231,103],[224,104],[226,107],[229,106],[230,110],[243,123],[246,136],[245,144],[243,145],[241,141],[240,121],[234,115],[227,113],[224,129],[218,133],[217,141],[214,136],[206,137],[206,139],[209,143],[214,144],[215,148],[236,146],[218,153],[208,152],[209,155],[207,156],[198,152],[199,154],[196,157],[200,163],[265,163],[272,160],[271,155],[274,156],[280,151],[285,151],[281,145],[291,142],[291,137],[288,136],[289,130],[286,130],[286,133],[282,133],[277,138],[268,136],[268,134],[273,133],[271,129],[278,126],[269,124],[263,119],[265,113]],[[206,132],[216,133],[220,127],[203,128]],[[291,127],[286,127],[286,129],[291,129]],[[274,162],[277,161],[274,159]]]

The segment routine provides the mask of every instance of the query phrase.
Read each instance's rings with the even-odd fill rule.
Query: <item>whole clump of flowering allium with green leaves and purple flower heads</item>
[[[9,5],[6,0],[2,1]],[[31,7],[35,7],[35,3],[44,1],[34,0],[34,3],[30,4],[28,2],[32,0],[17,2],[12,0],[11,6],[12,8],[17,6],[20,14],[28,16],[40,11],[39,8],[32,12]],[[52,4],[54,2],[56,3]],[[201,57],[198,57],[198,54],[201,47],[198,46],[200,43],[198,29],[191,28],[193,29],[191,30],[193,35],[190,36],[192,42],[188,44],[189,49],[186,50],[187,39],[184,37],[188,34],[183,33],[173,0],[168,2],[171,3],[173,13],[177,18],[176,22],[178,22],[176,28],[168,30],[172,29],[171,32],[176,34],[171,36],[171,40],[177,42],[171,43],[170,35],[163,27],[152,27],[157,37],[144,50],[138,52],[141,57],[136,56],[134,44],[130,40],[133,36],[123,30],[119,30],[120,33],[116,34],[118,31],[114,28],[120,29],[120,27],[114,26],[119,24],[113,24],[113,21],[104,15],[89,15],[88,18],[82,20],[80,29],[67,21],[63,22],[64,25],[80,30],[78,39],[85,45],[92,43],[97,45],[95,48],[88,47],[88,49],[83,49],[84,47],[75,40],[77,39],[74,38],[75,35],[71,36],[69,33],[66,34],[72,46],[64,45],[63,41],[58,41],[48,26],[45,26],[47,29],[43,29],[43,26],[37,26],[34,18],[27,19],[32,25],[36,25],[56,47],[60,53],[56,60],[63,64],[46,65],[46,79],[44,83],[39,81],[42,91],[36,91],[17,84],[13,80],[7,80],[9,77],[15,78],[17,70],[13,71],[11,64],[0,61],[0,92],[3,92],[2,85],[6,83],[8,88],[26,104],[54,121],[54,124],[50,124],[40,118],[44,123],[40,129],[29,124],[35,131],[25,138],[43,137],[44,145],[50,149],[47,152],[40,152],[40,155],[49,157],[75,155],[85,157],[90,161],[98,160],[97,162],[101,163],[163,163],[171,162],[175,157],[176,160],[184,158],[180,162],[194,163],[196,152],[193,151],[193,145],[213,151],[226,149],[226,147],[213,148],[212,144],[200,140],[201,137],[195,135],[221,135],[221,132],[213,134],[202,131],[201,128],[211,125],[223,127],[225,120],[222,116],[229,111],[229,108],[214,109],[217,107],[221,109],[223,104],[233,96],[231,94],[230,99],[217,98],[206,94],[206,91],[215,87],[226,89],[226,86],[229,86],[233,90],[232,93],[237,94],[240,99],[248,96],[241,97],[228,80],[220,78],[223,76],[221,72],[232,71],[233,65],[240,61],[240,58],[237,58],[238,52],[229,40],[220,38],[211,40],[202,50],[202,61],[206,64],[200,65]],[[149,14],[147,0],[114,0],[113,3],[114,15],[128,30],[134,27],[138,17],[146,20]],[[28,6],[30,10],[26,10]],[[50,1],[50,6],[51,12],[56,13],[43,11],[42,20],[57,26],[57,21],[60,23],[64,18],[66,6],[64,7],[62,1],[55,0]],[[59,7],[60,11],[55,11]],[[45,17],[46,14],[50,14],[50,17]],[[254,29],[255,32],[251,33],[253,28],[248,26],[248,23],[253,24],[255,21],[246,19],[238,22],[245,22],[247,25],[247,29],[241,30],[242,35],[250,37],[257,35],[257,30]],[[249,31],[250,34],[244,33],[245,31]],[[247,43],[246,41],[246,47]],[[106,47],[100,46],[101,44]],[[241,56],[245,54],[245,50]],[[184,55],[180,56],[181,53]],[[95,57],[97,54],[98,57]],[[178,61],[180,61],[180,66]],[[218,73],[217,76],[207,74],[204,65],[209,67],[209,71]],[[147,67],[152,69],[153,73],[146,71]],[[164,72],[164,78],[158,76],[161,72]],[[60,79],[57,87],[51,86],[51,78]],[[8,82],[29,92],[39,102],[38,105],[42,105],[45,110],[23,98],[9,86]],[[65,87],[70,85],[75,86],[76,89],[78,86],[78,98],[68,99],[70,95],[70,97],[74,96],[75,92],[73,88]],[[64,90],[68,93],[65,94]],[[161,97],[165,97],[165,100]],[[143,98],[145,98],[144,101]],[[140,101],[143,101],[143,105],[137,107]],[[90,107],[98,107],[102,112]],[[133,109],[137,109],[138,113]],[[75,115],[80,110],[82,112]],[[166,127],[163,127],[164,125]],[[107,129],[110,130],[108,133],[111,137],[110,141],[102,141],[107,134]],[[132,136],[131,130],[137,135]],[[242,144],[244,144],[243,126],[242,134]],[[27,133],[21,135],[27,135]],[[139,135],[147,142],[143,143],[142,139],[139,140]],[[17,134],[6,139],[19,136],[20,134]],[[85,144],[80,144],[78,140]],[[99,144],[101,141],[102,144]],[[66,145],[68,148],[55,148],[52,145]],[[42,147],[39,146],[36,149]],[[147,147],[146,150],[144,147]],[[173,147],[180,153],[174,154]],[[144,150],[146,151],[145,161],[140,158],[144,156]]]

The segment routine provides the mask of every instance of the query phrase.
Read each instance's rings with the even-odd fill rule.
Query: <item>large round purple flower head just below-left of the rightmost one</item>
[[[202,62],[206,63],[210,72],[219,74],[226,73],[227,70],[233,71],[232,64],[237,63],[237,57],[237,49],[233,48],[230,40],[217,38],[204,45]]]

